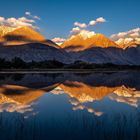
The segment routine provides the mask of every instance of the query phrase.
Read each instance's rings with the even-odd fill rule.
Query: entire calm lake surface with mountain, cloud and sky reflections
[[[140,73],[1,74],[0,139],[140,139]]]

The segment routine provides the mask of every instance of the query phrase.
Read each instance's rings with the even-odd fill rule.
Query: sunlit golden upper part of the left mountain
[[[10,28],[6,26],[0,27],[0,41],[5,45],[21,45],[28,43],[42,43],[48,46],[58,48],[58,46],[47,40],[39,32],[29,27]]]

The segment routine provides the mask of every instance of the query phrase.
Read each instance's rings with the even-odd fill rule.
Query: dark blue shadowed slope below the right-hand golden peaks
[[[140,46],[126,49],[92,47],[80,52],[71,52],[71,55],[76,60],[95,64],[140,65]]]

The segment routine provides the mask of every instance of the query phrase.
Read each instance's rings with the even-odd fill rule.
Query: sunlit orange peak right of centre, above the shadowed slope
[[[108,48],[108,47],[117,47],[115,42],[111,41],[107,37],[102,34],[95,34],[90,37],[84,34],[78,34],[76,36],[72,36],[70,39],[66,40],[62,45],[68,52],[78,52],[83,51],[86,49],[90,49],[93,47],[101,47],[101,48]]]

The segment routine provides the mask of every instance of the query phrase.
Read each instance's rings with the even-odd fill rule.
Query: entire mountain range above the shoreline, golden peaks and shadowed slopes
[[[25,62],[56,60],[64,64],[84,61],[140,65],[140,42],[114,42],[102,34],[78,34],[59,46],[29,27],[0,26],[0,58],[12,60],[15,57]]]

